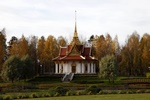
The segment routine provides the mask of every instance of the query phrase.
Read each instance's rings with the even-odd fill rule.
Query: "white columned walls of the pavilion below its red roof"
[[[86,61],[55,62],[55,74],[66,74],[66,73],[95,74],[96,63]]]

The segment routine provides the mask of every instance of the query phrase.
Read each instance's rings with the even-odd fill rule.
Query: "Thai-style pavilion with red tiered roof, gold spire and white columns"
[[[60,47],[59,56],[54,58],[55,74],[96,74],[96,59],[91,56],[91,46],[82,44],[78,38],[76,21],[72,41]]]

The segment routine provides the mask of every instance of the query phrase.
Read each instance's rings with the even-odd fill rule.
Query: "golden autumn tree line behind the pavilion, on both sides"
[[[81,40],[83,41],[83,40]],[[120,46],[118,37],[114,39],[110,34],[92,35],[92,55],[100,62],[103,57],[113,55],[116,60],[117,74],[121,76],[144,76],[150,67],[150,34],[142,37],[133,32],[126,38],[125,44]],[[6,44],[5,29],[0,32],[0,72],[5,61],[16,55],[20,59],[28,55],[32,60],[34,75],[52,74],[54,72],[53,58],[59,54],[61,46],[68,44],[63,36],[55,38],[49,35],[38,38],[37,36],[17,38],[13,36]],[[97,64],[98,66],[100,64]],[[97,67],[98,71],[99,67]]]

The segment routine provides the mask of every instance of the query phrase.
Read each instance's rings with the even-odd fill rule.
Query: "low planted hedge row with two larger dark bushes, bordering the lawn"
[[[150,90],[101,90],[98,86],[90,86],[85,91],[76,91],[65,89],[63,87],[56,87],[53,95],[50,92],[37,92],[31,94],[20,94],[20,95],[0,95],[0,100],[14,100],[14,99],[24,99],[24,98],[43,98],[43,97],[57,97],[57,96],[78,96],[78,95],[107,95],[107,94],[138,94],[138,93],[150,93]],[[67,92],[66,92],[67,90]]]

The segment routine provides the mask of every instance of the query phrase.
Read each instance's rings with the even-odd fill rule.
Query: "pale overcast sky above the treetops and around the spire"
[[[0,30],[7,39],[31,35],[64,36],[74,32],[75,10],[79,37],[109,33],[121,44],[137,31],[150,33],[150,0],[0,0]]]

